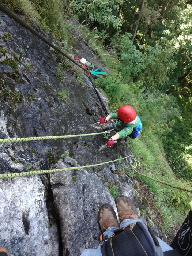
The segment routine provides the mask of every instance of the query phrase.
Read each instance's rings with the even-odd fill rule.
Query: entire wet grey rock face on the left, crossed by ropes
[[[72,75],[72,64],[65,78],[59,79],[58,62],[49,46],[2,12],[0,20],[0,138],[102,132],[99,126],[90,125],[104,113],[87,77],[80,86]],[[51,35],[48,39],[54,41]],[[75,44],[78,47],[80,43]],[[91,58],[91,54],[89,48],[89,56],[80,57]],[[70,104],[58,95],[63,89],[69,90]],[[105,143],[102,135],[94,135],[0,144],[0,173],[76,167],[0,180],[0,245],[10,256],[61,256],[67,248],[71,256],[79,256],[84,248],[97,248],[98,209],[103,203],[115,207],[106,184],[117,185],[120,194],[132,199],[138,196],[133,188],[136,181],[125,172],[118,174],[118,162],[78,169],[118,159],[121,154],[130,155],[123,163],[128,172],[133,158],[127,145],[118,143],[100,152]]]

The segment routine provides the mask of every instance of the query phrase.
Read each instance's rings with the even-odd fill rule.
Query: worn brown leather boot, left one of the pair
[[[108,227],[117,227],[117,229],[119,229],[116,213],[110,204],[103,204],[100,207],[98,221],[102,233],[105,232]]]

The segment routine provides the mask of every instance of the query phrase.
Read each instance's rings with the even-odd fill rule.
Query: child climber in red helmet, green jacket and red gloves
[[[123,140],[128,136],[131,137],[134,127],[139,124],[139,117],[136,116],[135,109],[128,105],[122,106],[117,113],[110,113],[106,118],[100,118],[98,123],[104,124],[112,118],[117,119],[117,121],[109,125],[108,128],[113,126],[117,133],[108,140],[108,147],[113,146],[114,140]]]

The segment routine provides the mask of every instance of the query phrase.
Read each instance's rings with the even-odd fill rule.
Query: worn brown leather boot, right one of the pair
[[[127,196],[117,196],[115,199],[120,222],[124,219],[139,219],[133,201]]]

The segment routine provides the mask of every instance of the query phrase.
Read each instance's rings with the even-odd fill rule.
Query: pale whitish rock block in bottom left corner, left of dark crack
[[[49,256],[59,251],[57,226],[50,226],[41,179],[35,175],[0,180],[0,187],[1,246],[10,255],[42,255],[43,251]]]

